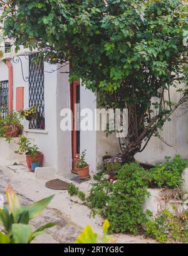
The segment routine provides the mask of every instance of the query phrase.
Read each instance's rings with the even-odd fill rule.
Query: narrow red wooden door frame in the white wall
[[[73,118],[72,118],[72,132],[71,132],[71,147],[72,147],[72,168],[71,168],[71,172],[72,173],[76,173],[75,170],[75,165],[76,162],[78,161],[78,159],[80,159],[80,154],[77,153],[76,151],[76,122],[75,122],[75,118],[76,117],[76,109],[75,109],[75,104],[76,104],[76,86],[80,85],[80,81],[74,81],[71,85],[70,85],[70,102],[71,102],[71,111],[73,113]]]

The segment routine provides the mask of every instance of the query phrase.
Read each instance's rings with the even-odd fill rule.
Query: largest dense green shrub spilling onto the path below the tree
[[[110,232],[138,233],[141,225],[147,221],[142,210],[145,203],[150,173],[138,163],[125,164],[118,171],[115,183],[98,181],[93,184],[88,206],[93,213],[100,213],[110,221]]]

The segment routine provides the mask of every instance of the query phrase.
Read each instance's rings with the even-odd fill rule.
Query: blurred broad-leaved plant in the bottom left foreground
[[[0,243],[30,243],[35,237],[43,234],[46,228],[55,226],[55,223],[47,223],[33,232],[33,227],[29,225],[29,221],[38,216],[54,196],[44,198],[30,206],[21,206],[16,193],[7,186],[6,197],[10,212],[1,202],[3,207],[0,208],[0,224],[3,227],[0,226]]]

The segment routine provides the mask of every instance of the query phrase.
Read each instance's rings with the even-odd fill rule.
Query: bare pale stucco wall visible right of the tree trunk
[[[183,85],[180,85],[183,87]],[[172,102],[178,102],[180,94],[176,88],[171,89]],[[164,156],[180,154],[182,158],[188,157],[188,111],[187,107],[181,105],[170,117],[170,122],[160,131],[160,136],[167,144],[157,137],[152,137],[148,146],[136,155],[138,161],[144,163],[156,163],[164,160]]]

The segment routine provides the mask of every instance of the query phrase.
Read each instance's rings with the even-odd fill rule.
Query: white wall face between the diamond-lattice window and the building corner
[[[56,69],[56,65],[48,65],[44,63],[44,71]],[[29,85],[29,84],[28,84]],[[24,92],[24,100],[28,107],[29,93],[28,85]],[[44,117],[45,130],[25,129],[26,136],[33,139],[34,144],[37,144],[39,150],[44,154],[43,166],[57,168],[57,147],[56,147],[56,86],[57,74],[44,72]],[[27,122],[27,121],[26,121]],[[27,122],[29,123],[29,122]],[[25,125],[28,127],[28,124]]]

